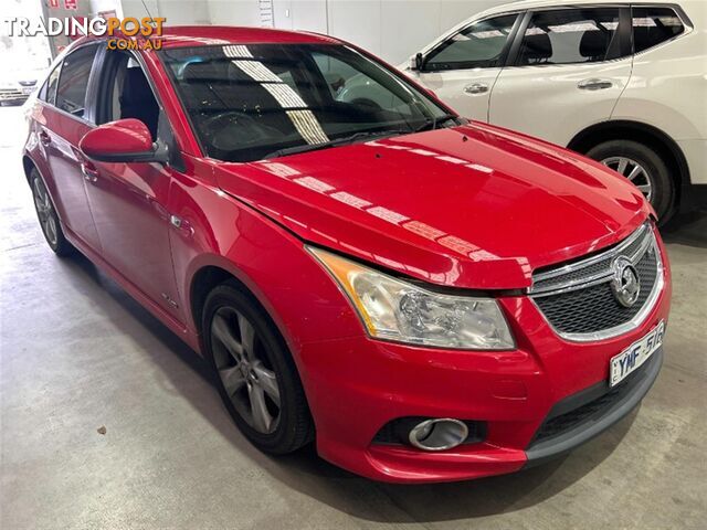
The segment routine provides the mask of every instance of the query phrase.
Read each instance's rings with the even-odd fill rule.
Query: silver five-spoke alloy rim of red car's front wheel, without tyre
[[[253,430],[272,434],[279,423],[279,388],[253,324],[234,308],[221,307],[211,322],[211,343],[219,377],[236,412]]]

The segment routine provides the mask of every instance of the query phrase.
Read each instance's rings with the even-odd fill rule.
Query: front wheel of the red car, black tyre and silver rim
[[[234,282],[208,296],[205,357],[231,417],[258,449],[292,453],[314,439],[297,369],[265,311]]]

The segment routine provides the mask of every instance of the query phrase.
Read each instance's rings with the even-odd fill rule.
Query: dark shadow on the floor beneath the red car
[[[162,384],[176,389],[228,439],[240,454],[274,479],[339,511],[378,522],[449,521],[504,513],[537,505],[564,490],[608,458],[631,428],[637,410],[609,432],[563,458],[513,475],[435,485],[374,483],[340,469],[316,454],[314,446],[292,455],[270,457],[255,449],[232,424],[213,388],[207,362],[152,317],[87,258],[77,255],[62,264],[70,283],[86,290],[86,283],[116,304],[99,304],[120,332],[151,356]],[[94,289],[89,288],[89,292]],[[88,293],[91,296],[91,293]],[[146,337],[149,337],[147,339]],[[140,344],[157,338],[163,346]],[[184,365],[189,370],[184,370]],[[194,378],[196,375],[196,378]]]

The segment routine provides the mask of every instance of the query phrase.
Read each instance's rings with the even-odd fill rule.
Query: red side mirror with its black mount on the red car
[[[169,160],[167,146],[152,142],[147,125],[127,118],[96,127],[84,135],[78,149],[98,162],[158,162]]]

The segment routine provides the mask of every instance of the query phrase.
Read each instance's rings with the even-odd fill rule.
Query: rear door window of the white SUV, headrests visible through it
[[[523,36],[517,64],[579,64],[621,55],[619,8],[540,11]]]

